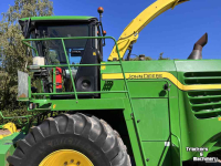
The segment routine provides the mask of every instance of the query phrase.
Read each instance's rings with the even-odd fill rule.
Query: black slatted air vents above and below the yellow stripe
[[[185,73],[183,82],[194,84],[221,84],[221,72]],[[191,110],[198,118],[211,118],[221,115],[221,90],[188,92]]]

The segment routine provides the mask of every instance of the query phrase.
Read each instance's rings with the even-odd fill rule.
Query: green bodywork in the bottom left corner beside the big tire
[[[22,133],[14,133],[0,139],[0,166],[9,166],[7,157],[13,154],[15,142],[23,137],[24,135]]]

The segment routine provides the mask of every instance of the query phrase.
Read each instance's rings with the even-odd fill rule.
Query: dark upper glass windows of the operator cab
[[[73,25],[39,25],[36,31],[31,33],[32,39],[38,38],[71,38],[88,37],[88,24]],[[81,62],[87,39],[64,40],[67,58],[71,64]],[[41,56],[45,56],[48,64],[66,64],[65,52],[61,40],[46,40],[32,42]],[[73,54],[73,52],[75,54]]]

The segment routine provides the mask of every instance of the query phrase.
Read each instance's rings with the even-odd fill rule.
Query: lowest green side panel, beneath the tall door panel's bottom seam
[[[165,142],[143,142],[148,166],[171,166],[170,146]]]

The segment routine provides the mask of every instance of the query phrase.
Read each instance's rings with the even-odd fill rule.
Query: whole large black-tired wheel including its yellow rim
[[[57,157],[62,155],[54,156],[63,152],[81,157],[70,155],[73,158],[66,159]],[[52,162],[48,162],[50,159]],[[78,113],[45,120],[19,141],[13,155],[8,157],[12,166],[56,166],[61,163],[81,166],[86,160],[93,166],[130,166],[126,146],[117,132],[103,120]]]

